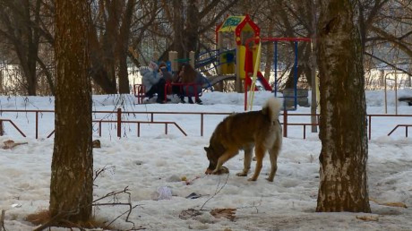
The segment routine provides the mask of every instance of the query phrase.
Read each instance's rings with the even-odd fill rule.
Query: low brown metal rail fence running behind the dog
[[[3,112],[25,112],[25,113],[35,113],[35,138],[38,139],[38,130],[39,130],[39,113],[54,113],[54,110],[0,110],[0,113]],[[199,115],[200,116],[200,135],[204,135],[204,117],[206,115],[230,115],[233,112],[144,112],[144,111],[122,111],[121,108],[117,109],[117,111],[93,111],[94,114],[116,114],[116,120],[110,121],[110,123],[117,123],[117,136],[121,136],[121,125],[123,123],[136,123],[138,124],[138,135],[140,136],[140,124],[165,124],[165,130],[167,132],[167,124],[174,124],[184,135],[187,135],[184,131],[183,128],[178,126],[176,122],[173,121],[155,121],[154,116],[164,114],[164,115]],[[150,119],[149,121],[128,121],[128,120],[122,120],[122,114],[150,114]],[[287,137],[288,134],[288,126],[303,126],[303,138],[306,138],[306,126],[318,126],[318,124],[312,124],[312,123],[290,123],[288,122],[289,117],[295,117],[295,116],[311,116],[312,114],[309,113],[288,113],[288,112],[283,112],[281,116],[283,116],[283,123],[282,125],[286,124],[286,126],[283,126],[283,136]],[[319,114],[316,114],[316,117],[319,121]],[[412,114],[368,114],[368,138],[369,140],[372,137],[372,117],[412,117]],[[9,119],[3,119],[4,121],[10,121]],[[105,123],[103,120],[94,120],[94,122],[99,123],[101,121],[102,123]],[[109,121],[108,121],[109,122]],[[17,126],[12,123],[12,125],[16,128]],[[404,126],[407,124],[398,124],[399,126]],[[406,130],[407,127],[405,126]],[[396,128],[393,129],[395,131]],[[23,135],[21,130],[18,129],[18,131]],[[393,133],[391,131],[391,135]],[[99,125],[99,135],[101,135],[101,124]],[[24,135],[25,136],[25,135]],[[49,135],[50,136],[50,135]],[[49,137],[48,136],[48,137]],[[407,136],[407,133],[406,133]]]

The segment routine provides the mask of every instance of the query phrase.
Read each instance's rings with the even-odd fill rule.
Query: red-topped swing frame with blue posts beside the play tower
[[[297,65],[298,65],[298,42],[311,42],[311,39],[308,37],[264,37],[264,38],[250,38],[246,40],[246,58],[245,58],[245,72],[246,75],[251,75],[253,73],[253,77],[251,78],[251,82],[246,82],[245,81],[245,111],[248,108],[248,103],[249,103],[249,110],[252,109],[253,107],[253,97],[254,97],[254,92],[256,90],[256,80],[257,80],[257,75],[260,73],[259,67],[260,67],[260,53],[261,53],[261,46],[262,42],[274,42],[274,96],[277,97],[277,90],[278,90],[278,84],[277,84],[277,70],[278,70],[278,43],[279,42],[293,42],[294,45],[294,63],[293,63],[293,90],[294,90],[294,95],[293,96],[279,96],[280,98],[283,98],[284,101],[284,110],[296,110],[297,109]],[[249,44],[252,43],[252,46]],[[258,49],[256,58],[255,57],[250,57],[252,53],[252,49]],[[255,62],[253,63],[253,59],[255,58]],[[254,65],[253,65],[254,64]],[[248,88],[250,89],[250,96],[248,100]],[[293,98],[294,99],[294,107],[292,109],[287,109],[286,108],[286,103],[285,100],[286,98]]]

